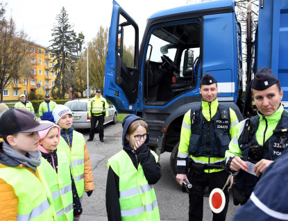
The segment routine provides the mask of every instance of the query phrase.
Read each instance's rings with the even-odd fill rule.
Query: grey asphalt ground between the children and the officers
[[[85,140],[88,139],[89,130],[79,130],[83,133]],[[108,158],[119,152],[122,148],[122,127],[121,124],[108,124],[104,126],[104,140],[99,141],[99,134],[96,133],[92,142],[87,142],[87,149],[90,154],[92,164],[95,190],[90,197],[84,193],[83,195],[83,214],[82,221],[104,221],[108,220],[105,208],[105,188],[108,169],[106,163]],[[155,193],[158,199],[161,220],[188,220],[189,197],[187,193],[182,193],[181,188],[174,181],[170,166],[170,153],[164,153],[160,156],[162,166],[162,178],[154,185]],[[235,208],[232,204],[230,195],[230,203],[226,220],[232,220],[235,214]],[[208,197],[204,199],[204,215],[203,221],[212,220],[212,212],[210,211]]]

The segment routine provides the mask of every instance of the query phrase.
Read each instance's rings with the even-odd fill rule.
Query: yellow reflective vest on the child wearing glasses
[[[158,161],[157,154],[153,151],[151,153]],[[108,160],[107,167],[109,166],[119,177],[121,220],[160,220],[153,185],[146,180],[141,164],[137,170],[128,154],[122,149]]]

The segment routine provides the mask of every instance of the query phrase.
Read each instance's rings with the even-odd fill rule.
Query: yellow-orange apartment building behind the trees
[[[8,87],[3,90],[3,101],[17,101],[19,95],[28,95],[35,92],[36,95],[47,95],[55,83],[56,74],[52,72],[54,63],[50,50],[39,44],[33,44],[30,48],[31,77],[25,78],[19,74],[19,78],[12,79]],[[40,88],[37,88],[40,83]]]

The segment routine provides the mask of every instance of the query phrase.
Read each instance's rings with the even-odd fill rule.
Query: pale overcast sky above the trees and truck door
[[[69,23],[74,25],[76,34],[82,31],[85,35],[85,44],[96,37],[101,25],[110,27],[112,0],[1,1],[7,3],[6,17],[12,16],[17,30],[24,29],[33,42],[44,47],[51,45],[51,29],[62,7],[66,9]],[[117,3],[138,24],[141,42],[148,17],[159,10],[183,6],[187,0],[117,0]]]

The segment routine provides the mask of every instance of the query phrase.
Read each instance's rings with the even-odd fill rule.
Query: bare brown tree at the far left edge
[[[20,63],[29,54],[33,42],[28,41],[24,31],[17,31],[12,17],[4,17],[5,9],[0,5],[0,93],[3,101],[3,90],[13,78],[20,76]]]

